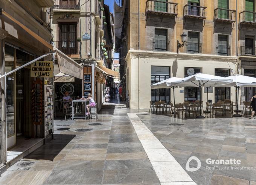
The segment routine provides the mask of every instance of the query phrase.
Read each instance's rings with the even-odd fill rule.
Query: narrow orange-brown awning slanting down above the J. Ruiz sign
[[[33,32],[32,30],[30,30],[28,27],[26,27],[24,24],[20,23],[18,20],[16,20],[15,18],[13,18],[10,14],[6,13],[5,11],[3,11],[3,9],[0,9],[0,15],[5,15],[6,17],[8,17],[10,20],[12,20],[14,23],[18,24],[20,27],[22,27],[27,33],[29,33],[31,36],[33,36],[35,39],[37,39],[39,42],[41,42],[43,45],[45,45],[47,48],[49,48],[50,50],[53,49],[53,46],[47,42],[46,40],[44,40],[43,38],[41,38],[40,36],[38,36],[37,33]]]

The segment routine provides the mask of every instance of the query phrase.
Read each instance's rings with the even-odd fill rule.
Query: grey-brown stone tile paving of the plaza
[[[0,184],[160,184],[159,174],[134,130],[128,114],[148,110],[104,106],[98,120],[55,121],[55,138],[8,168]],[[181,120],[166,115],[136,114],[198,185],[256,185],[256,121],[248,118]],[[90,126],[90,123],[101,123]],[[142,124],[143,124],[142,123]],[[172,124],[172,125],[169,125]],[[138,126],[136,126],[138,128]],[[68,130],[61,130],[69,128]],[[92,129],[78,132],[77,129]],[[150,133],[151,133],[150,132]],[[148,145],[143,141],[143,144]],[[150,145],[148,145],[150,146]],[[154,148],[154,147],[153,147]],[[165,150],[162,149],[161,150]],[[164,154],[168,155],[168,154]],[[201,161],[194,172],[185,166],[190,156]],[[157,158],[157,155],[155,156]],[[170,156],[169,156],[170,158]],[[241,165],[207,164],[206,159],[240,159]],[[173,158],[171,158],[173,159]],[[170,159],[170,160],[171,160]],[[158,159],[159,160],[159,159]],[[32,161],[27,167],[18,164]],[[166,166],[163,161],[162,167]],[[177,166],[179,168],[180,166]],[[193,160],[190,167],[197,167]],[[215,168],[218,166],[219,168]],[[209,169],[211,167],[211,169]],[[220,169],[221,167],[221,169]],[[227,169],[229,168],[229,169]],[[232,168],[232,170],[230,170]],[[179,168],[179,170],[181,170]],[[172,176],[171,174],[170,176]],[[160,176],[165,179],[168,176]],[[190,185],[193,182],[164,182]]]

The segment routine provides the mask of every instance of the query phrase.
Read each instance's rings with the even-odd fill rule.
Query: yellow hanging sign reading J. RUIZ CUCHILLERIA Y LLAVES
[[[53,61],[36,61],[31,64],[30,77],[53,78]]]

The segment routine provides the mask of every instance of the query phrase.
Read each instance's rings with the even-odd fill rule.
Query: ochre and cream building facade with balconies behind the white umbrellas
[[[125,45],[119,49],[124,58],[120,68],[125,69],[130,108],[148,108],[150,100],[173,102],[169,89],[150,88],[169,77],[199,72],[255,76],[255,2],[127,0],[121,8],[121,40]],[[178,43],[182,44],[179,48]],[[239,101],[249,100],[253,90],[242,89]],[[199,91],[195,87],[177,88],[175,102],[199,100]],[[202,91],[206,102],[206,88]],[[210,88],[208,99],[235,102],[235,88]]]

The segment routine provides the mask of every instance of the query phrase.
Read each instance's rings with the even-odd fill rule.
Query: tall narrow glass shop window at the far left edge
[[[14,70],[14,53],[15,49],[5,45],[5,72]],[[6,77],[6,128],[7,138],[15,136],[15,73]]]

